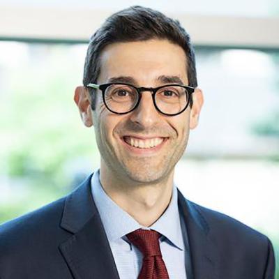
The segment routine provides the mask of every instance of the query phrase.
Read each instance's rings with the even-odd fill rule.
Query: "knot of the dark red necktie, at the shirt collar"
[[[126,236],[142,252],[144,257],[162,257],[159,245],[160,233],[153,230],[137,229]]]

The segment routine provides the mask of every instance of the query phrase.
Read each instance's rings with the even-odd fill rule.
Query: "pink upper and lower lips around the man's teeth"
[[[125,148],[128,149],[128,151],[130,153],[134,153],[135,155],[144,155],[144,156],[152,156],[155,153],[157,153],[158,151],[160,151],[160,149],[163,148],[163,146],[165,145],[165,143],[169,139],[168,137],[162,137],[163,142],[161,142],[157,146],[151,147],[149,149],[140,149],[138,147],[131,146],[130,144],[125,142],[124,137],[135,137],[135,138],[140,139],[140,140],[148,140],[148,139],[152,139],[152,138],[155,138],[155,137],[162,137],[162,136],[142,137],[142,136],[139,136],[139,135],[136,135],[136,136],[125,135],[125,136],[121,137],[121,142],[122,142],[123,146],[125,146]]]

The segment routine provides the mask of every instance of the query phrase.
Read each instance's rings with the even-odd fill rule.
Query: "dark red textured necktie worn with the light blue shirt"
[[[142,269],[137,279],[169,279],[159,246],[161,234],[152,230],[137,229],[126,236],[143,255]]]

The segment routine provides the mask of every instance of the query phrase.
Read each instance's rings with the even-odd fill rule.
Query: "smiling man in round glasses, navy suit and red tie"
[[[84,86],[100,169],[73,193],[0,228],[0,278],[274,278],[266,236],[186,200],[174,167],[202,91],[179,22],[134,6],[91,38]]]

